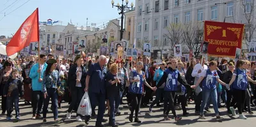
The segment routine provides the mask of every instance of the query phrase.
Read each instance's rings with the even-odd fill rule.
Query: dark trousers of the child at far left
[[[16,117],[19,117],[20,116],[19,96],[7,96],[6,97],[7,117],[11,117],[13,103],[14,103],[14,107],[15,107]]]

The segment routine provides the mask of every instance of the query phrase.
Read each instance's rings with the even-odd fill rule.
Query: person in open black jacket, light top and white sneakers
[[[75,63],[68,72],[68,81],[67,86],[70,89],[72,101],[68,107],[67,111],[67,119],[71,118],[71,112],[75,108],[79,107],[81,99],[84,95],[84,88],[85,88],[85,78],[86,78],[86,69],[82,66],[83,57],[81,55],[77,55],[75,58]],[[76,120],[81,122],[81,115],[76,114]]]

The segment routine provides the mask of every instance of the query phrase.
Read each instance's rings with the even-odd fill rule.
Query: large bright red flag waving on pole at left
[[[23,22],[12,40],[6,45],[7,56],[28,47],[31,42],[39,42],[38,8]]]

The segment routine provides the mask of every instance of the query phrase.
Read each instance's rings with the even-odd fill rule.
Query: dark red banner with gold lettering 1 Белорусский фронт
[[[209,56],[236,56],[236,48],[241,49],[244,24],[205,21],[204,40],[208,42]]]

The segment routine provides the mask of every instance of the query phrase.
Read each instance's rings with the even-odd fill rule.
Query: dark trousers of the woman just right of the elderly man
[[[115,124],[115,112],[116,112],[117,108],[119,107],[120,98],[121,98],[120,93],[116,94],[116,95],[112,94],[111,96],[108,96],[109,106],[110,106],[109,123],[111,125]]]

